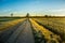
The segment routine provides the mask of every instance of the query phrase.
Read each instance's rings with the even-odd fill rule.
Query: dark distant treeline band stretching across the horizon
[[[65,16],[0,16],[0,18],[65,18]]]

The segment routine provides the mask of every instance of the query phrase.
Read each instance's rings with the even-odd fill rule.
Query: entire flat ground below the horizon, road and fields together
[[[0,43],[65,43],[65,17],[0,18]]]

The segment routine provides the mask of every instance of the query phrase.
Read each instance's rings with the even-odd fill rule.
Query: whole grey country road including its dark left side
[[[35,43],[28,19],[0,33],[0,43]]]

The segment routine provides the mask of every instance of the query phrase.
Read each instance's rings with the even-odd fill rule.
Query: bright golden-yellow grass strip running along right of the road
[[[44,27],[37,24],[34,19],[30,19],[34,30],[40,34],[42,34],[43,39],[47,41],[47,43],[60,43],[62,40],[60,35],[49,31]],[[38,37],[40,37],[40,34]],[[42,42],[40,42],[42,43]],[[63,43],[63,42],[62,42]]]

